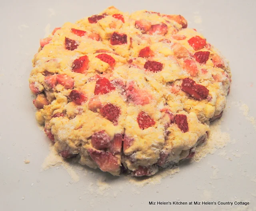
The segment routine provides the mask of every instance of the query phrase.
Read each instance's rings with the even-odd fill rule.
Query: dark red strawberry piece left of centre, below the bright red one
[[[120,108],[113,104],[106,104],[100,109],[100,114],[109,121],[116,123],[120,115]]]

